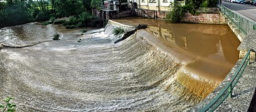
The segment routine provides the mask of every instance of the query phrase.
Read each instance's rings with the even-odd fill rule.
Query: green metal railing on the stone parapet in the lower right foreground
[[[214,111],[218,106],[229,96],[229,98],[232,97],[232,90],[234,89],[235,85],[239,81],[239,78],[241,77],[242,73],[245,70],[245,67],[247,64],[250,63],[250,50],[248,50],[247,54],[245,55],[244,59],[240,63],[239,67],[237,68],[236,72],[232,76],[229,83],[227,83],[224,88],[220,91],[220,93],[215,96],[215,98],[210,101],[204,108],[200,110],[200,112],[204,111]]]

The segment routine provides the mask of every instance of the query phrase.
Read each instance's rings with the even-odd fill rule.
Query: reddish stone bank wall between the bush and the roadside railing
[[[225,18],[220,14],[199,14],[192,15],[186,13],[182,22],[200,23],[200,24],[227,24]]]

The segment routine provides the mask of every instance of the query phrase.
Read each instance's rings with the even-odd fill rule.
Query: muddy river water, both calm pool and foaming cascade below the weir
[[[239,58],[227,26],[115,21],[149,28],[118,44],[113,28],[133,28],[114,21],[84,35],[37,23],[0,29],[9,46],[0,50],[0,98],[13,96],[17,111],[187,111]]]

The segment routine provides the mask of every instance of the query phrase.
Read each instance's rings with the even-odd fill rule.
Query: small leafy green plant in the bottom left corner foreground
[[[6,110],[7,110],[8,112],[13,112],[13,111],[16,110],[16,109],[15,109],[16,105],[10,103],[10,101],[11,101],[12,99],[13,99],[13,98],[8,97],[8,98],[6,98],[6,99],[4,100],[5,105],[1,105],[1,104],[0,104],[0,110],[1,110],[2,112],[6,111]]]

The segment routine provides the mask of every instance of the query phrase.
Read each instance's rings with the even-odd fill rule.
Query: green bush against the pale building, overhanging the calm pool
[[[176,1],[171,5],[172,5],[172,9],[165,17],[165,21],[172,22],[172,23],[180,22],[185,14],[184,7],[180,6]]]

